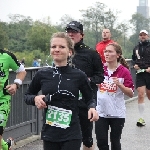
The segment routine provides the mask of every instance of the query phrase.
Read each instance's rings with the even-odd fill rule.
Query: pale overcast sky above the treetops
[[[8,21],[9,14],[30,16],[33,20],[50,16],[54,24],[65,14],[78,20],[81,18],[79,10],[86,10],[95,2],[104,3],[112,10],[120,10],[121,21],[131,19],[139,5],[139,0],[0,0],[0,20]]]

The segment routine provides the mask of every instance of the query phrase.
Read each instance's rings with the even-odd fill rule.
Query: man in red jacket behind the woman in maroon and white
[[[106,45],[109,43],[113,43],[114,41],[111,40],[111,33],[109,29],[103,29],[102,31],[102,41],[96,44],[96,50],[99,53],[101,60],[103,63],[105,63],[105,57],[104,57],[104,50]]]

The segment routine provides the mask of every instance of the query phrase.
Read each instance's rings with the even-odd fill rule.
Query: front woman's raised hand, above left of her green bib
[[[38,109],[47,108],[46,103],[42,99],[43,97],[45,97],[45,95],[38,95],[34,98],[35,105]]]

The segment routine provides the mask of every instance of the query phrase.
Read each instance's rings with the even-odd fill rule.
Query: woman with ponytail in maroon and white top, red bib
[[[108,130],[111,128],[111,150],[121,150],[121,133],[125,123],[124,95],[133,97],[133,80],[127,62],[122,57],[121,47],[110,43],[104,50],[104,82],[97,92],[97,111],[100,119],[95,122],[97,146],[109,150]]]

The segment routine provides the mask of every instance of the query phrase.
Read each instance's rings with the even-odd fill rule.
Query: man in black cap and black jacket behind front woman
[[[97,95],[97,85],[103,82],[103,65],[99,54],[83,43],[83,25],[80,22],[72,21],[67,24],[66,32],[75,42],[75,56],[72,63],[76,68],[86,73],[93,88],[94,96]],[[79,99],[84,99],[80,95]],[[93,150],[92,129],[93,123],[87,119],[88,109],[83,101],[79,100],[79,119],[83,136],[83,149]]]

